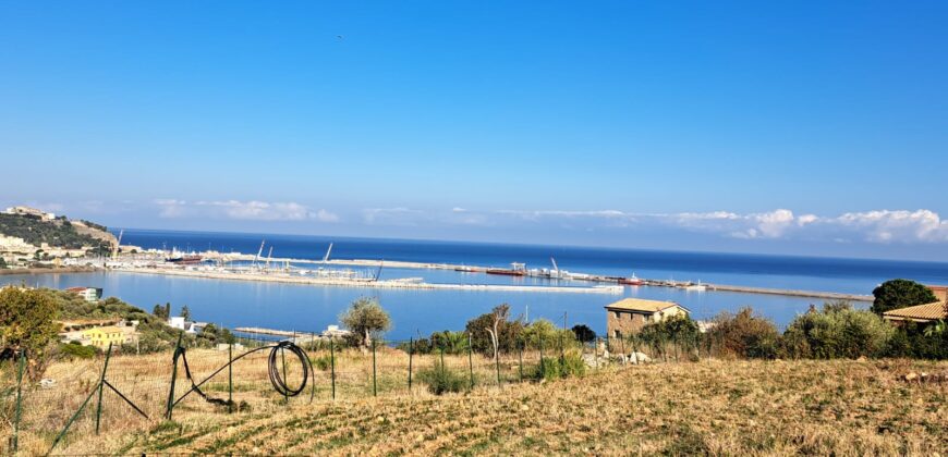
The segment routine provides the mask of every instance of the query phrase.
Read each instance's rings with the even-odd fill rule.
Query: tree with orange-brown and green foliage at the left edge
[[[46,371],[59,331],[58,314],[59,307],[49,294],[16,287],[0,291],[0,346],[4,350],[26,350],[33,380]]]

